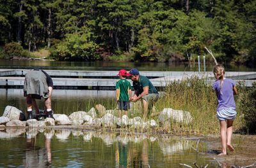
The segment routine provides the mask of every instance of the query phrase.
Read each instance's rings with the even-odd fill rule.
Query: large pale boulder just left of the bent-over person
[[[6,106],[4,109],[3,116],[8,117],[10,121],[12,120],[24,121],[26,119],[24,113],[22,113],[22,111],[20,111],[19,109],[13,106]]]

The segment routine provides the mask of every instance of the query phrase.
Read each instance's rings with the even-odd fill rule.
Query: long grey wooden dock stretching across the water
[[[28,69],[0,69],[0,88],[23,88],[24,76]],[[51,77],[55,89],[73,90],[115,90],[117,71],[60,71],[45,70]],[[155,87],[166,87],[175,80],[198,76],[211,84],[214,81],[212,72],[183,71],[141,71]],[[236,82],[243,81],[246,87],[252,87],[256,81],[256,72],[227,72],[227,78]],[[131,81],[131,80],[129,80]],[[132,83],[132,81],[131,81]]]

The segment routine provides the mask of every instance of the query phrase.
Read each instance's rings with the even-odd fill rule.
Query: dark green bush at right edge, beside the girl
[[[244,120],[248,132],[256,132],[256,82],[241,99]]]

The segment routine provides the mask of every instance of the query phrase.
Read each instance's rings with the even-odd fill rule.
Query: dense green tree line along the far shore
[[[56,60],[256,62],[255,24],[255,0],[0,0],[1,48]]]

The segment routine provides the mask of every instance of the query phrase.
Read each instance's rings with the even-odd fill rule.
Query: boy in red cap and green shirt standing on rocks
[[[121,118],[121,112],[128,116],[128,109],[130,109],[131,101],[131,83],[126,80],[126,70],[121,69],[117,74],[120,80],[116,81],[116,101],[118,104],[118,117]]]

